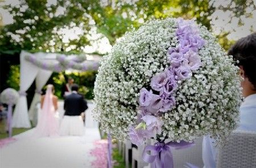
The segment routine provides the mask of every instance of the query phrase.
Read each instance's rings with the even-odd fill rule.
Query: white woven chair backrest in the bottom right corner
[[[256,167],[256,132],[234,131],[218,149],[217,167]]]

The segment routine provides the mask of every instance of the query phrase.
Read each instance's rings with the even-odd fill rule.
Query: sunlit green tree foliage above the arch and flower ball
[[[129,31],[130,26],[137,28],[152,18],[196,18],[210,29],[210,16],[216,10],[230,10],[233,11],[233,16],[245,15],[247,18],[250,18],[247,7],[255,10],[252,0],[230,1],[226,4],[223,2],[223,5],[218,2],[220,1],[57,0],[51,4],[47,0],[23,0],[20,5],[5,6],[13,15],[14,23],[1,28],[1,50],[82,51],[85,45],[92,42],[88,35],[93,28],[97,28],[98,33],[107,37],[110,44],[114,44],[117,38]],[[239,24],[242,24],[242,20]],[[64,39],[63,34],[67,29],[71,29],[71,34],[78,33],[78,36]],[[79,29],[82,31],[79,32]],[[225,49],[230,44],[227,35],[228,32],[218,35]]]

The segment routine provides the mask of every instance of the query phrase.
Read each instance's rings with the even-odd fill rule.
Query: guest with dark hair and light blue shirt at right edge
[[[256,33],[241,38],[230,48],[229,55],[238,61],[243,100],[240,106],[240,126],[237,130],[256,132]],[[236,148],[236,147],[234,147]],[[205,136],[203,140],[203,162],[205,168],[216,167],[217,149],[214,140]]]

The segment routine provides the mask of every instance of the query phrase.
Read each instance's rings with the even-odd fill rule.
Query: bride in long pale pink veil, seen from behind
[[[47,85],[46,94],[41,98],[41,111],[34,133],[36,137],[56,136],[58,134],[59,123],[56,118],[58,98],[53,93],[53,85]]]

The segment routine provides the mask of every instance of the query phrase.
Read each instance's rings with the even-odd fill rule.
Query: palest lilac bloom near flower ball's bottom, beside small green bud
[[[147,131],[153,132],[155,136],[156,133],[161,133],[163,122],[154,115],[145,115],[142,120],[146,123]]]

